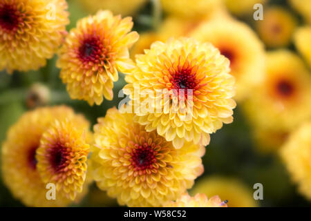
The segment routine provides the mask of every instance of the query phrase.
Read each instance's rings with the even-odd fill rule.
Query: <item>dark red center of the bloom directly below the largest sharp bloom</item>
[[[156,161],[156,151],[154,151],[147,143],[142,146],[135,144],[135,150],[131,157],[131,162],[135,170],[141,171],[152,169],[153,163]]]

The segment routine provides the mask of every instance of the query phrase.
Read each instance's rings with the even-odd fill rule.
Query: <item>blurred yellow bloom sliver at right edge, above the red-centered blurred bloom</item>
[[[311,68],[311,26],[296,29],[294,32],[294,44]]]

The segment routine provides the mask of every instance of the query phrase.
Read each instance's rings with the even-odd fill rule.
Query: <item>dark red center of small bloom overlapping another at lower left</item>
[[[66,148],[62,147],[61,144],[57,144],[55,148],[51,148],[49,160],[55,171],[60,171],[66,166],[67,155]]]

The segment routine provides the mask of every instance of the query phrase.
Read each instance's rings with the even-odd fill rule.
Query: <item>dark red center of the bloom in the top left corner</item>
[[[0,27],[6,31],[15,31],[19,27],[22,17],[16,6],[0,3]]]

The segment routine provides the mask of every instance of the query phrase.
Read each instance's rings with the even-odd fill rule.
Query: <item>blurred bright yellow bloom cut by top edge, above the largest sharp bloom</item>
[[[162,8],[169,15],[191,20],[202,19],[223,7],[222,0],[161,0]]]

